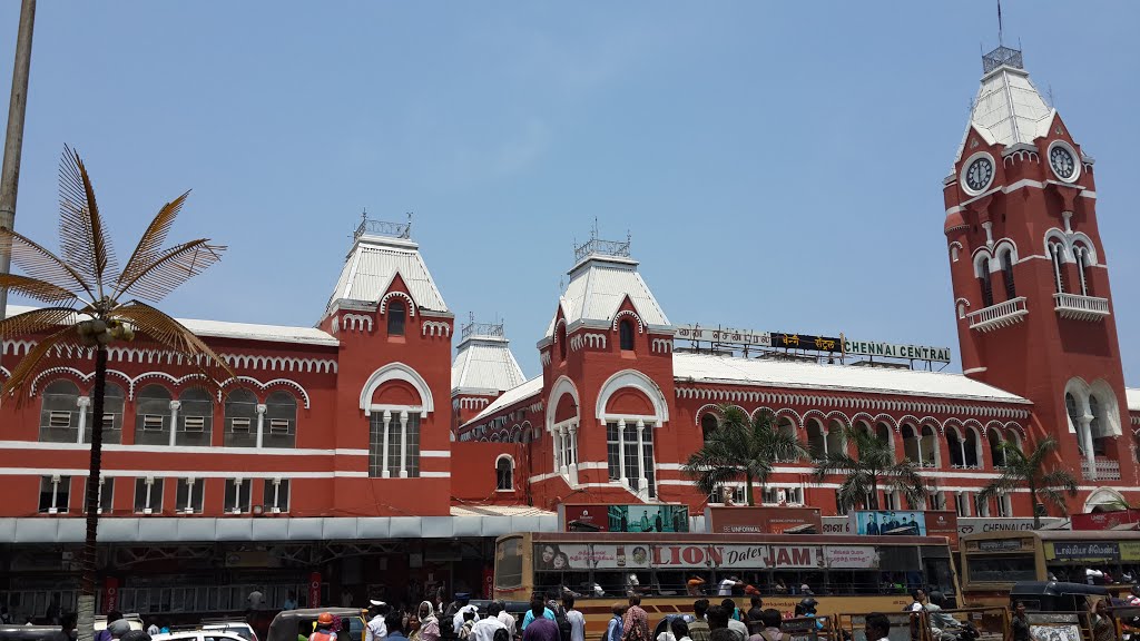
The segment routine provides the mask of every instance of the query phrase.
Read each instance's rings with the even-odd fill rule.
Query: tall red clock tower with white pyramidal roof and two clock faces
[[[1037,92],[1021,51],[984,56],[943,187],[963,372],[1032,400],[1029,439],[1056,437],[1083,488],[1134,487],[1094,178],[1093,159]]]

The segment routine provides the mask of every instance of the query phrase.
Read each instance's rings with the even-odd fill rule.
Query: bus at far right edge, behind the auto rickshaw
[[[1123,589],[1124,575],[1137,576],[1140,569],[1140,532],[987,532],[963,536],[959,546],[969,605],[1005,605],[1019,581],[1092,581]]]

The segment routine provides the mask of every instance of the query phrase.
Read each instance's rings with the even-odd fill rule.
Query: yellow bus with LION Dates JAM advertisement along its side
[[[806,597],[829,616],[897,612],[915,587],[940,590],[952,602],[959,592],[940,536],[508,534],[495,542],[494,578],[495,598],[506,601],[560,590],[579,594],[587,638],[604,631],[611,606],[630,592],[642,595],[653,624],[668,614],[692,614],[697,599],[718,605],[725,593],[747,610],[748,586],[765,608],[785,616]]]

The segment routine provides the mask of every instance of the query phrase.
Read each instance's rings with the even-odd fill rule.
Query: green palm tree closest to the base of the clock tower
[[[1043,504],[1041,498],[1052,503],[1061,514],[1068,514],[1065,494],[1076,496],[1076,479],[1067,470],[1045,468],[1045,460],[1057,451],[1056,438],[1047,437],[1037,441],[1028,454],[1010,441],[1002,441],[1000,447],[1005,455],[1005,465],[1000,477],[982,488],[978,498],[988,501],[1004,492],[1025,487],[1033,500],[1033,529],[1041,528],[1041,514],[1037,512],[1037,505]]]

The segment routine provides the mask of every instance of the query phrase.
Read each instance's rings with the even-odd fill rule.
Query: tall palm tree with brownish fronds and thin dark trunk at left
[[[87,478],[87,537],[82,554],[79,634],[88,641],[95,619],[96,532],[103,451],[107,344],[130,341],[136,332],[181,355],[217,386],[229,368],[181,323],[138,299],[162,300],[177,286],[201,274],[225,248],[201,238],[164,248],[166,234],[189,192],[158,210],[138,246],[120,271],[107,230],[99,216],[91,180],[78,153],[64,148],[59,164],[59,254],[10,229],[0,229],[0,250],[10,252],[23,275],[0,274],[0,290],[23,294],[47,307],[0,319],[0,336],[42,338],[0,387],[0,399],[27,401],[35,374],[44,362],[72,355],[95,358],[92,390],[91,469]]]

